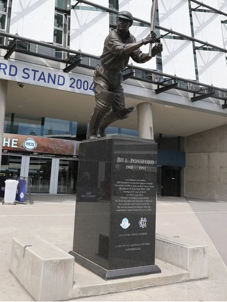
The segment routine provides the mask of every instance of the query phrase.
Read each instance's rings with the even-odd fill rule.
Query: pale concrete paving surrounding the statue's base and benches
[[[9,272],[12,238],[38,235],[66,252],[72,250],[75,196],[32,196],[34,205],[0,204],[0,300],[33,299]],[[77,301],[226,301],[225,203],[158,198],[156,232],[180,242],[208,245],[209,279],[78,299]],[[42,201],[42,202],[41,202]],[[196,213],[194,213],[194,211]],[[204,213],[205,212],[205,213]],[[218,213],[211,213],[218,212]],[[225,218],[224,218],[225,217]],[[201,224],[199,219],[201,220]],[[215,220],[217,219],[217,220]],[[224,221],[225,219],[225,221]],[[211,242],[213,240],[216,248]],[[224,235],[224,237],[222,237]],[[223,238],[223,240],[222,240]],[[225,260],[226,261],[226,260]]]

